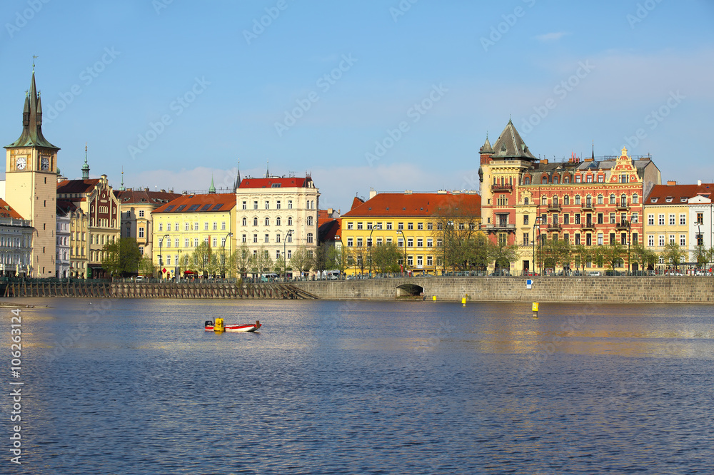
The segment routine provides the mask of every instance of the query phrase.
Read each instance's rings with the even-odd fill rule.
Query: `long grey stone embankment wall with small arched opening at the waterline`
[[[296,282],[328,300],[395,300],[397,287],[419,285],[426,300],[471,302],[714,302],[714,277],[411,277]]]

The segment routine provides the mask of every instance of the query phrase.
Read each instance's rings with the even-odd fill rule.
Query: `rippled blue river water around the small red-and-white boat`
[[[24,302],[0,473],[714,472],[711,306]]]

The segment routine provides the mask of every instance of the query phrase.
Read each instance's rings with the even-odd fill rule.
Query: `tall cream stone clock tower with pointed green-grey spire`
[[[42,135],[42,103],[35,86],[34,63],[22,111],[22,134],[5,149],[5,200],[34,228],[31,262],[21,274],[55,277],[59,148]]]

